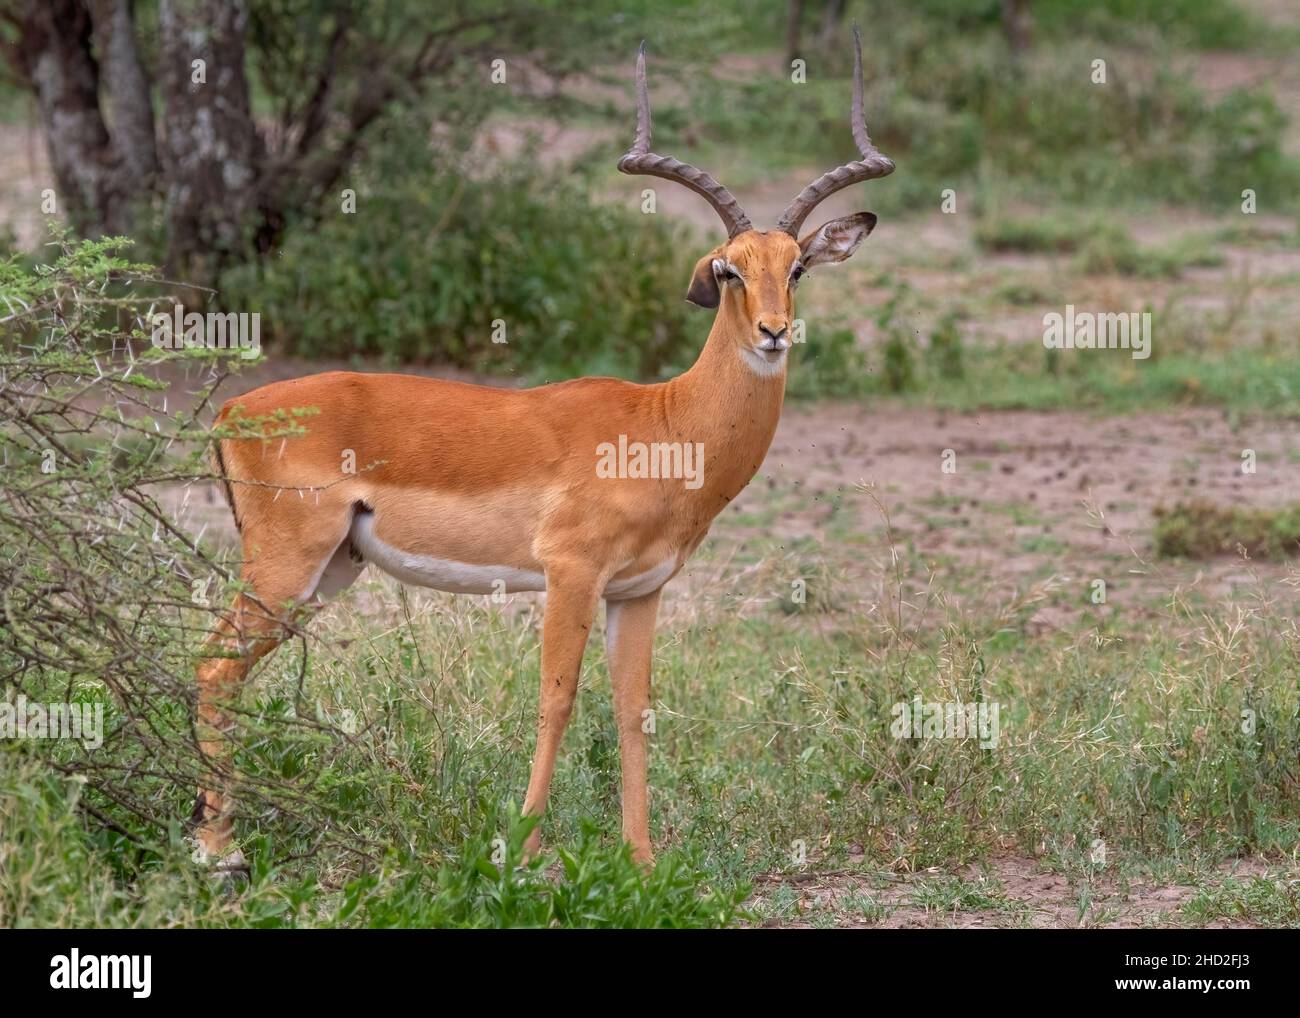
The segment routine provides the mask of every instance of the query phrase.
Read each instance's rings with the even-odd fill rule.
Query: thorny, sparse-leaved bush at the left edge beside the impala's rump
[[[64,785],[91,836],[136,879],[176,850],[207,770],[194,663],[234,577],[160,495],[211,477],[199,415],[228,373],[222,355],[151,343],[146,316],[166,291],[122,257],[127,244],[58,235],[49,265],[0,264],[10,311],[0,345],[0,701],[20,705],[16,715],[46,705],[99,715],[90,737],[69,725],[79,737],[0,740],[0,766],[44,775],[47,790]],[[164,363],[194,389],[188,407],[168,407]],[[296,716],[242,720],[282,758],[329,742]],[[309,781],[290,775],[307,770],[264,770],[237,794],[254,813],[300,815]]]

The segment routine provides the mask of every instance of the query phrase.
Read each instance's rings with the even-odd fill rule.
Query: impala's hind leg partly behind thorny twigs
[[[244,865],[243,854],[231,848],[235,801],[230,792],[230,707],[252,666],[289,636],[286,624],[306,621],[311,607],[346,588],[361,568],[350,556],[346,540],[309,549],[304,555],[259,555],[243,569],[255,595],[239,594],[208,637],[207,654],[196,668],[199,750],[207,771],[191,819],[200,857],[222,870]]]

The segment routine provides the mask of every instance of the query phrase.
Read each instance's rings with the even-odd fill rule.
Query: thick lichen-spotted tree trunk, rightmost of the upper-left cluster
[[[244,75],[247,25],[243,0],[162,0],[159,9],[168,269],[205,286],[251,250],[261,146]]]

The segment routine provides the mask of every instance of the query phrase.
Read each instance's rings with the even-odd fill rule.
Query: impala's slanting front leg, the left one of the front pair
[[[546,612],[542,616],[542,688],[537,707],[537,751],[533,754],[533,774],[524,796],[524,813],[541,816],[546,813],[546,798],[555,772],[555,754],[559,751],[564,727],[573,712],[577,698],[577,679],[582,668],[582,651],[595,619],[595,577],[564,579],[547,572]],[[526,857],[537,854],[542,844],[540,828],[534,828],[524,844]]]

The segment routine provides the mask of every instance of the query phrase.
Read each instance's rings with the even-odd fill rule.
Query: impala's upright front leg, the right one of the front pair
[[[658,611],[658,590],[633,601],[604,602],[606,658],[623,764],[623,837],[632,846],[632,858],[645,865],[654,862],[645,718],[650,709],[650,657]]]

